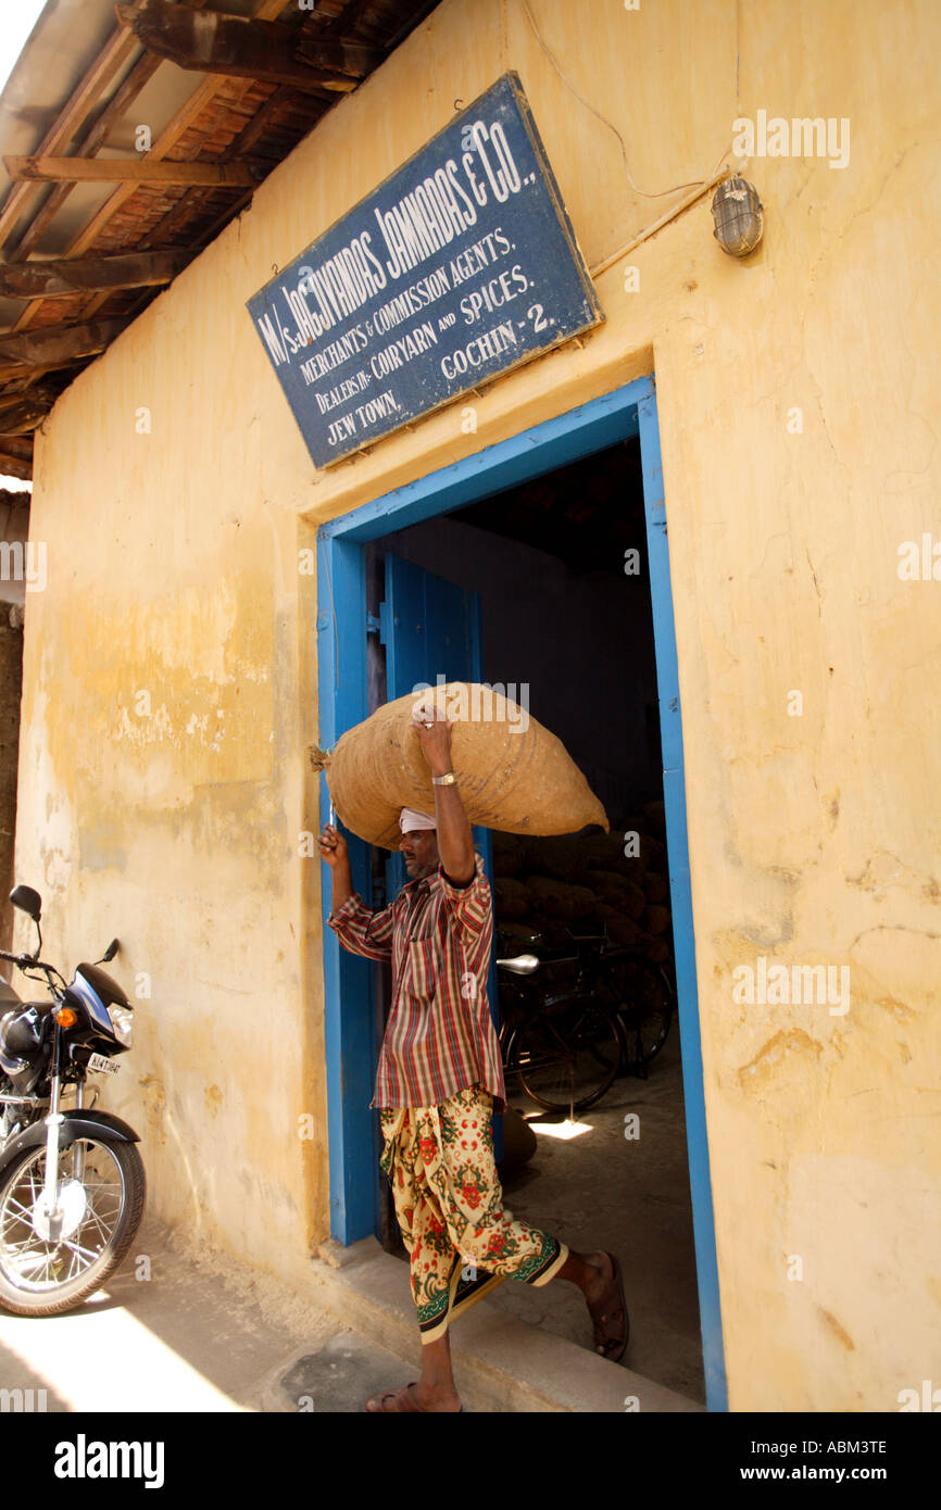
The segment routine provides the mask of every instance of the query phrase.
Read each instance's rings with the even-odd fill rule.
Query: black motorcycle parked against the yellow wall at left
[[[115,1273],[143,1217],[137,1134],[85,1104],[89,1074],[121,1069],[115,1059],[131,1046],[133,1009],[98,968],[118,939],[66,985],[39,959],[39,894],[15,886],[9,900],[33,920],[39,942],[33,954],[0,950],[0,959],[42,980],[50,1000],[21,1001],[0,977],[0,1306],[59,1315]],[[63,1110],[73,1089],[76,1102]]]

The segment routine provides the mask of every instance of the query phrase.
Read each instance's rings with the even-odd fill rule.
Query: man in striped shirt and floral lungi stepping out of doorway
[[[370,912],[352,888],[346,841],[320,834],[331,867],[329,926],[344,948],[391,960],[393,1004],[376,1092],[396,1216],[411,1259],[421,1336],[421,1379],[373,1395],[366,1409],[461,1410],[449,1326],[504,1279],[578,1285],[595,1324],[595,1348],[618,1362],[627,1347],[621,1265],[610,1253],[574,1253],[503,1210],[491,1117],[503,1110],[500,1045],[486,975],[494,936],[489,882],[450,761],[452,725],[433,705],[415,723],[432,773],[435,812],[403,808],[409,880]]]

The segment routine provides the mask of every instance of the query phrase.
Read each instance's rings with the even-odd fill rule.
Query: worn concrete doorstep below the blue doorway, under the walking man
[[[311,1262],[316,1300],[349,1330],[313,1353],[302,1345],[278,1364],[263,1382],[263,1410],[361,1410],[367,1395],[417,1377],[421,1344],[408,1267],[375,1237],[346,1249],[322,1243],[319,1252]],[[465,1410],[702,1412],[695,1400],[486,1300],[455,1324],[452,1359]]]

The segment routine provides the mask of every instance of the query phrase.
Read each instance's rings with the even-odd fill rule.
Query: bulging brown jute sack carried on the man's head
[[[400,809],[435,811],[414,723],[429,702],[455,720],[452,766],[471,823],[508,834],[575,834],[598,823],[607,832],[604,808],[562,740],[492,689],[450,681],[384,704],[314,757],[337,817],[361,840],[397,849]]]

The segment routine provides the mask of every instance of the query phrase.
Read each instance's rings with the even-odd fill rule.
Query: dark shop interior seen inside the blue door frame
[[[508,1065],[500,1175],[515,1216],[582,1252],[619,1255],[633,1318],[631,1368],[702,1401],[680,1031],[669,1010],[675,975],[639,438],[388,533],[367,545],[366,559],[379,609],[387,571],[412,583],[411,593],[399,592],[396,610],[423,630],[423,580],[479,598],[477,680],[506,692],[562,740],[607,812],[610,835],[492,835],[485,858],[495,953],[536,951],[548,980],[544,988],[541,977],[539,989],[559,995],[578,960],[588,959],[591,971],[592,954],[609,957],[613,947],[618,957],[625,947],[621,957],[639,989],[662,980],[657,1007],[666,1036],[662,1043],[642,1039],[637,1052],[625,1015],[619,1072],[575,1116],[539,1105]],[[420,571],[403,572],[402,562]],[[375,705],[385,701],[382,661],[378,634],[370,642]],[[456,680],[449,664],[426,658],[421,669],[432,684]],[[376,888],[385,883],[382,861],[375,852]],[[498,972],[501,1021],[514,985]],[[384,982],[381,997],[388,1001],[388,994]],[[603,1066],[600,1072],[603,1080]],[[382,1240],[403,1256],[388,1200]],[[491,1305],[591,1347],[585,1306],[571,1287],[506,1284]]]

